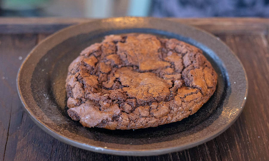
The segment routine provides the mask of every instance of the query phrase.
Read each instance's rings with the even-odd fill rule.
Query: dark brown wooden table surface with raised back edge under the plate
[[[30,50],[51,33],[85,18],[0,18],[0,159],[3,160],[269,160],[269,19],[176,19],[221,38],[242,61],[249,80],[239,119],[197,147],[151,157],[99,154],[51,137],[22,110],[16,75]]]

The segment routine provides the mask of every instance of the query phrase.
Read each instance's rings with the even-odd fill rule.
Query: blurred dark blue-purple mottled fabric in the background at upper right
[[[269,0],[153,0],[154,17],[269,17]]]

